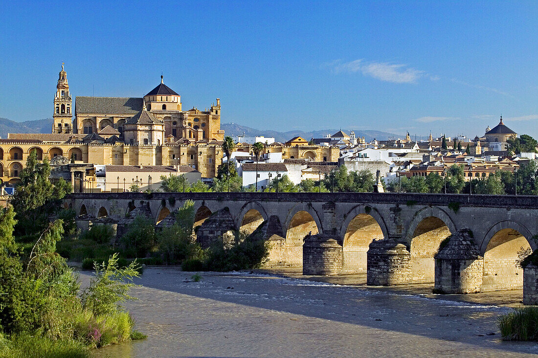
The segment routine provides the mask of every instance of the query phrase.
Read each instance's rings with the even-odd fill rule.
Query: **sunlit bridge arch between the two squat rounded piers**
[[[358,205],[344,216],[338,236],[344,255],[343,273],[364,273],[370,243],[387,237],[388,231],[377,209]]]

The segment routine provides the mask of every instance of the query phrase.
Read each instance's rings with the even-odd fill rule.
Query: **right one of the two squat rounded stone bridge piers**
[[[366,252],[366,283],[375,286],[409,283],[410,257],[404,244],[387,238],[373,241]]]

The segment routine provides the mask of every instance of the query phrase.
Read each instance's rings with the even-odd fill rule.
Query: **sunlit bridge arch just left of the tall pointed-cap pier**
[[[441,242],[456,230],[454,221],[438,207],[425,207],[416,212],[405,238],[410,252],[411,282],[434,282],[434,256]]]

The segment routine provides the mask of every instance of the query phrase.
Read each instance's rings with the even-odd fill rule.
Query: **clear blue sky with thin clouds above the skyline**
[[[73,95],[143,96],[259,129],[538,137],[538,2],[4,2],[0,117]]]

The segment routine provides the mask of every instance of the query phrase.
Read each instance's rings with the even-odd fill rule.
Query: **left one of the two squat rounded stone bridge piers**
[[[335,235],[307,235],[303,244],[303,275],[339,275],[344,263]]]

